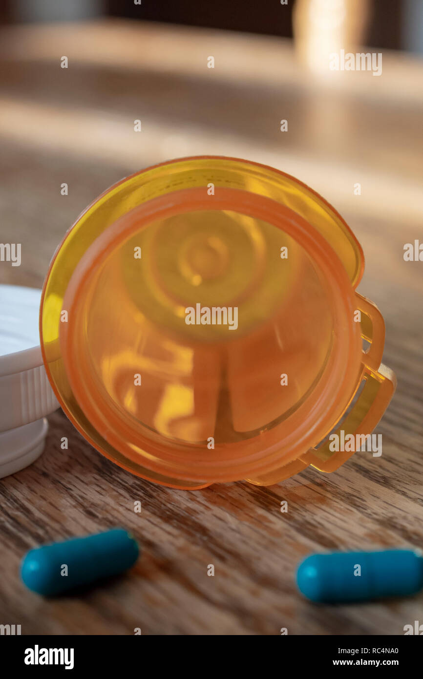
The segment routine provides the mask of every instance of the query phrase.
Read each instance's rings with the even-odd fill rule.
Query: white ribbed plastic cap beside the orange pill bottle
[[[43,452],[45,416],[59,407],[43,365],[41,290],[0,285],[0,478]]]

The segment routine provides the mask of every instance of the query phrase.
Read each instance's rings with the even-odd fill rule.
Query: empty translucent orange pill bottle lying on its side
[[[213,156],[148,168],[54,256],[50,382],[94,447],[157,483],[333,471],[352,453],[331,452],[329,433],[371,433],[394,391],[382,316],[354,292],[363,265],[342,217],[278,170]]]

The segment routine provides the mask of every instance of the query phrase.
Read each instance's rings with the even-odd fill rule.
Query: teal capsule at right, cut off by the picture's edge
[[[314,602],[407,596],[423,587],[423,557],[411,549],[312,554],[299,564],[297,585]]]

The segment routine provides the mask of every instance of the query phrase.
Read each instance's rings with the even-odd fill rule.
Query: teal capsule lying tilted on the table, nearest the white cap
[[[132,535],[113,528],[31,549],[22,560],[20,576],[32,591],[52,596],[122,573],[138,557],[139,547]]]

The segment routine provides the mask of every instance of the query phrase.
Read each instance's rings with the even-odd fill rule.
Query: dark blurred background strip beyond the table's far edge
[[[296,0],[258,3],[255,0],[193,0],[153,2],[151,0],[6,0],[4,22],[81,20],[115,16],[144,21],[160,21],[187,26],[203,26],[229,31],[245,31],[293,37],[292,16]],[[280,5],[284,4],[283,12]],[[301,3],[299,3],[301,4]],[[308,1],[320,12],[326,5],[339,12],[344,1]],[[423,7],[421,0],[369,0],[373,20],[366,28],[366,44],[394,50],[423,50]],[[267,6],[266,6],[267,5]],[[320,5],[320,6],[319,6]],[[352,3],[362,11],[360,0]]]

